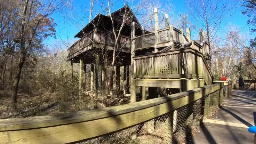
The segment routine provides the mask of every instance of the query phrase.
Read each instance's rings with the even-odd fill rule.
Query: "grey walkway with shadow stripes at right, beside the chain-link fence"
[[[232,90],[217,115],[204,120],[189,144],[253,144],[248,127],[256,123],[256,91]]]

